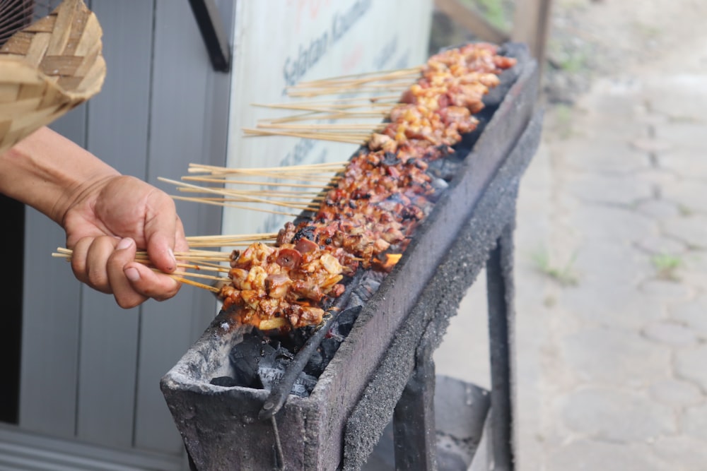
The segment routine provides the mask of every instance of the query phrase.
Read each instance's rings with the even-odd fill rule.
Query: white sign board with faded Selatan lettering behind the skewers
[[[301,81],[426,60],[432,0],[248,0],[236,5],[228,167],[347,160],[356,145],[244,137],[243,128],[273,117],[271,109],[252,103],[291,101],[285,88]],[[276,232],[292,219],[225,208],[223,233]]]

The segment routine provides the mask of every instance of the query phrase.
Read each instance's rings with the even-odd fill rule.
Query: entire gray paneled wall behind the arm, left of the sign
[[[234,3],[217,1],[229,31]],[[90,8],[104,30],[103,91],[52,127],[168,193],[173,188],[157,177],[178,179],[189,162],[223,165],[230,76],[211,68],[189,3],[93,0]],[[220,233],[218,208],[177,202],[177,209],[188,235]],[[64,244],[62,229],[30,210],[25,230],[32,250],[25,256],[21,429],[178,460],[182,441],[159,380],[216,314],[213,295],[185,286],[175,299],[124,311],[49,258]],[[37,296],[33,286],[47,276],[54,282]]]

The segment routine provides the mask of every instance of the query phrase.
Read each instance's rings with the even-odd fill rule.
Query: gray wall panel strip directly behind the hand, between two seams
[[[107,76],[90,101],[88,150],[119,172],[145,178],[151,73],[151,1],[93,0],[103,26]],[[77,436],[132,446],[139,309],[84,290],[78,373]]]

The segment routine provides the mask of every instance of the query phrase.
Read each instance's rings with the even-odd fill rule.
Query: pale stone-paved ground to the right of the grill
[[[640,60],[548,107],[522,181],[519,469],[707,470],[705,6],[647,1],[634,17],[638,2],[574,3],[588,31],[640,19],[653,42],[645,54],[640,35],[619,37],[614,52],[642,47]],[[479,281],[436,364],[488,386]]]

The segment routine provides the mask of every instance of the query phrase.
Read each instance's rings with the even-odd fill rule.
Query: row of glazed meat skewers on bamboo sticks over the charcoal
[[[436,54],[417,68],[290,88],[291,96],[310,99],[354,92],[376,95],[267,105],[293,114],[259,121],[256,128],[245,129],[246,136],[357,143],[360,150],[348,162],[276,169],[190,165],[182,181],[163,179],[190,193],[175,196],[180,200],[260,208],[299,221],[286,222],[277,234],[189,238],[191,249],[175,254],[183,271],[173,276],[216,292],[223,309],[232,309],[238,322],[261,330],[321,323],[322,303],[344,292],[345,277],[362,268],[386,272],[395,266],[433,205],[428,165],[452,153],[462,134],[476,128],[474,114],[484,107],[481,100],[498,85],[498,75],[514,64],[515,59],[498,54],[492,44],[467,44]],[[378,121],[320,124],[364,118]],[[256,196],[252,185],[271,190]],[[209,250],[223,247],[236,249]],[[57,255],[70,257],[67,251]],[[139,261],[149,263],[145,254]]]

